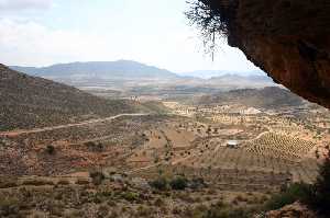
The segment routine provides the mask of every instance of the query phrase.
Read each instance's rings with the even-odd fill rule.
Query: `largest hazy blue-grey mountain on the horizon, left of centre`
[[[45,78],[173,79],[177,74],[131,60],[58,64],[50,67],[10,67]]]

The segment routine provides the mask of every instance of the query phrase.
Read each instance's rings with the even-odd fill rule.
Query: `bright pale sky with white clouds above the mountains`
[[[174,72],[257,70],[226,41],[212,61],[187,10],[186,0],[0,0],[0,62],[128,59]]]

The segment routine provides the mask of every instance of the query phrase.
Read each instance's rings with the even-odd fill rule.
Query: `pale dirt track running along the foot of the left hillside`
[[[65,125],[59,125],[59,126],[51,126],[51,127],[43,127],[43,128],[34,128],[34,129],[22,129],[22,130],[13,130],[13,131],[2,131],[0,133],[0,137],[15,137],[20,136],[23,134],[36,134],[36,133],[43,133],[43,131],[51,131],[51,130],[56,130],[56,129],[62,129],[62,128],[69,128],[69,127],[75,127],[75,126],[85,126],[89,124],[95,124],[95,123],[101,123],[101,122],[109,122],[117,119],[119,117],[123,116],[147,116],[150,114],[118,114],[116,116],[110,116],[110,117],[105,117],[105,118],[97,118],[97,119],[89,119],[86,122],[80,122],[76,124],[65,124]]]

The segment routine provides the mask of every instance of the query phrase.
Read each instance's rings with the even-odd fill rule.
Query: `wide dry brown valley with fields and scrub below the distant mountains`
[[[41,93],[54,85],[3,69],[23,84],[34,81],[26,90],[35,81],[47,82]],[[158,87],[161,94],[116,97],[62,88],[86,111],[58,101],[69,95],[54,89],[53,105],[25,102],[70,118],[25,124],[23,110],[14,113],[20,125],[1,124],[0,217],[172,218],[215,207],[253,214],[288,184],[314,183],[330,139],[329,111],[278,87],[180,94]]]

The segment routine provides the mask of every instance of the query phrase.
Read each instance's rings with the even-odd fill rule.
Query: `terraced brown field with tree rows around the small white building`
[[[226,146],[226,136],[191,135],[188,137],[191,139],[190,146],[187,144],[183,147],[185,152],[178,153],[175,147],[183,145],[183,136],[187,135],[183,134],[184,131],[180,135],[174,129],[160,133],[161,139],[157,141],[155,138],[158,135],[154,135],[145,146],[146,150],[147,147],[154,149],[152,144],[162,140],[166,145],[167,139],[175,145],[167,149],[173,156],[166,161],[163,157],[163,161],[156,165],[150,161],[144,167],[151,168],[134,171],[133,175],[151,179],[162,169],[172,174],[202,177],[219,188],[251,191],[266,187],[276,190],[287,182],[312,183],[318,175],[318,161],[307,156],[316,145],[307,140],[264,133],[233,149]],[[161,147],[157,146],[158,149]]]

